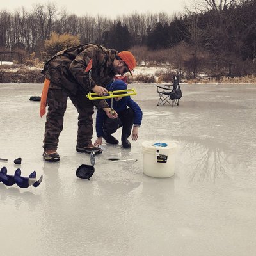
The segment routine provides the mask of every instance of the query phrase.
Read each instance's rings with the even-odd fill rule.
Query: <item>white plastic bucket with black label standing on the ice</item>
[[[157,178],[172,177],[179,141],[144,141],[143,172]]]

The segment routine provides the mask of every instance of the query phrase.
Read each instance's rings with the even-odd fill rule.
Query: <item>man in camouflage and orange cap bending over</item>
[[[101,148],[92,144],[93,106],[96,106],[98,111],[105,111],[109,118],[116,118],[118,115],[111,112],[106,100],[89,100],[86,94],[91,90],[97,95],[105,95],[105,86],[113,81],[115,74],[124,74],[128,71],[131,73],[134,67],[136,60],[131,52],[118,53],[98,44],[78,45],[58,52],[45,63],[42,74],[45,75],[45,81],[49,81],[43,145],[43,156],[46,161],[60,160],[57,147],[68,97],[79,114],[77,152],[102,152]]]

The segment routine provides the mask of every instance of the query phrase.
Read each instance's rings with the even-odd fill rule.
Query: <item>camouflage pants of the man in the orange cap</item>
[[[74,95],[63,88],[49,88],[47,95],[48,113],[45,122],[45,150],[57,149],[59,136],[63,129],[63,118],[67,108],[67,98],[74,104],[78,112],[77,145],[87,146],[92,143],[93,136],[93,104],[84,93],[77,91]]]

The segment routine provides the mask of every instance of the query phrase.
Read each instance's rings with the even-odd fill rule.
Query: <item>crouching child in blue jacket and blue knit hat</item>
[[[107,89],[111,91],[126,90],[127,84],[122,80],[116,80]],[[106,101],[111,106],[111,99],[106,99]],[[138,139],[138,127],[140,127],[142,120],[141,108],[130,96],[125,96],[113,98],[113,109],[118,113],[118,118],[116,119],[109,118],[104,111],[97,111],[97,140],[95,140],[94,145],[101,145],[102,138],[109,144],[118,144],[119,141],[111,134],[122,127],[122,146],[124,148],[131,148],[128,138],[132,133],[132,140]]]

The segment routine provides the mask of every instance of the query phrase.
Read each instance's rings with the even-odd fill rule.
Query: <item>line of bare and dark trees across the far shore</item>
[[[60,12],[53,3],[37,3],[31,12],[25,8],[0,12],[0,50],[23,51],[42,59],[52,33],[68,34],[77,36],[81,44],[133,49],[139,60],[150,61],[153,56],[156,60],[158,52],[159,61],[193,78],[199,72],[244,76],[255,73],[255,13],[256,0],[200,0],[185,14],[134,12],[112,20],[99,15],[78,17]],[[140,56],[145,47],[150,54]]]

